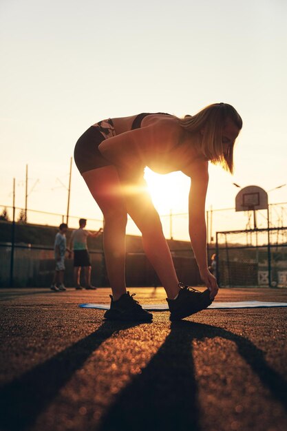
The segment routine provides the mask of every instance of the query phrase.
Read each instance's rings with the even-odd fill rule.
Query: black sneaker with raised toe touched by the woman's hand
[[[198,313],[198,311],[204,310],[212,303],[209,297],[209,289],[200,292],[193,287],[184,286],[182,283],[178,284],[178,286],[180,287],[178,297],[176,299],[167,298],[167,304],[169,304],[169,311],[171,312],[169,317],[171,322]]]

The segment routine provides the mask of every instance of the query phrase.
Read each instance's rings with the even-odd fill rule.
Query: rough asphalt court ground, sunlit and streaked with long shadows
[[[162,288],[129,291],[165,302]],[[117,324],[78,307],[109,293],[1,288],[1,430],[287,429],[287,308]],[[287,289],[221,289],[216,300],[287,302]]]

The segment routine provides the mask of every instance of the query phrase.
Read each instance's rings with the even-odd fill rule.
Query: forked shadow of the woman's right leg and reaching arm
[[[248,339],[222,328],[182,321],[168,335],[147,368],[134,377],[103,417],[100,431],[199,431],[198,387],[192,356],[193,339],[222,337],[238,352],[273,397],[287,410],[287,383]]]

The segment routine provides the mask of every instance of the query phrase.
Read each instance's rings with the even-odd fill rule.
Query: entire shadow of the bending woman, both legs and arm
[[[118,330],[133,326],[136,324],[105,322],[95,333],[1,388],[1,430],[23,431],[31,427],[103,341]],[[214,337],[233,341],[262,384],[287,410],[287,383],[267,364],[262,350],[248,339],[222,328],[182,321],[171,324],[171,332],[158,353],[118,394],[94,428],[100,431],[200,431],[192,341]]]

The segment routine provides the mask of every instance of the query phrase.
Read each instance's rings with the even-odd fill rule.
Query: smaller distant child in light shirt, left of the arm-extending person
[[[61,223],[59,226],[59,232],[56,233],[54,242],[54,255],[56,260],[56,269],[54,272],[54,280],[51,285],[51,290],[55,292],[65,291],[64,285],[64,273],[65,273],[65,253],[66,251],[71,253],[70,249],[67,249],[66,240],[67,224]]]

